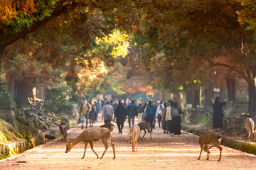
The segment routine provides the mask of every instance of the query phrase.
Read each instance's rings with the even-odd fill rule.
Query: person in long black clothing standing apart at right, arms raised
[[[220,97],[216,97],[213,103],[213,128],[220,130],[223,128],[223,106],[226,105],[226,100],[220,101]]]

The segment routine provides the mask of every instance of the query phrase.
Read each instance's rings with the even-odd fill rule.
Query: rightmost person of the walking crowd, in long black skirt
[[[174,108],[171,109],[171,124],[172,124],[172,132],[174,135],[181,135],[181,115],[183,111],[180,107],[178,107],[178,102],[174,102]],[[172,133],[171,133],[172,135]]]

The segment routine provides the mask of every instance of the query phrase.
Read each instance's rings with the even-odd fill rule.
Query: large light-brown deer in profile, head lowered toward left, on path
[[[102,141],[102,143],[105,146],[105,151],[102,154],[102,159],[104,157],[105,152],[107,152],[108,145],[111,145],[113,148],[113,153],[115,158],[115,151],[114,151],[114,144],[110,141],[110,130],[107,128],[93,128],[89,130],[83,131],[75,140],[68,142],[65,153],[70,152],[70,150],[77,145],[79,142],[84,142],[85,143],[85,152],[87,145],[90,143],[90,147],[92,151],[97,155],[97,159],[99,158],[99,155],[95,152],[93,149],[93,143],[97,141]],[[82,159],[85,157],[85,152],[82,156]]]

